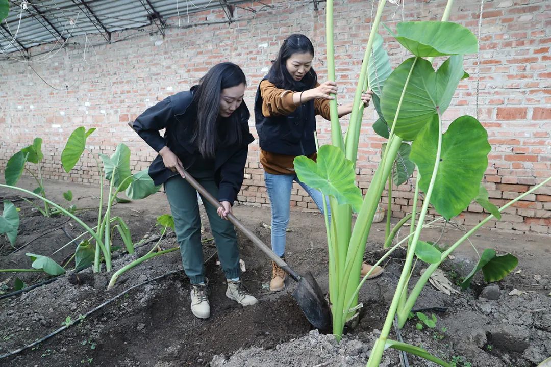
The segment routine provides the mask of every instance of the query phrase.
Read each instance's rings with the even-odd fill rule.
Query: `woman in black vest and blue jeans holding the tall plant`
[[[329,100],[337,94],[337,84],[328,80],[318,83],[312,68],[314,46],[305,35],[293,34],[283,41],[268,75],[256,92],[255,120],[260,139],[260,162],[272,209],[272,249],[280,257],[285,255],[285,234],[289,224],[290,198],[293,181],[299,183],[323,212],[323,199],[317,191],[296,177],[293,160],[296,156],[316,159],[316,115],[331,119]],[[362,95],[365,106],[371,91]],[[338,107],[339,117],[352,112],[353,103]],[[361,274],[371,265],[364,263]],[[377,267],[370,277],[378,276]],[[272,261],[270,290],[285,287],[286,273]]]

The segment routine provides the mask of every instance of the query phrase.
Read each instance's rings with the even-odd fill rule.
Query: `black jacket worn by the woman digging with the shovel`
[[[168,146],[180,158],[185,169],[193,165],[193,156],[198,154],[197,147],[191,142],[192,128],[197,118],[197,112],[192,106],[193,92],[179,92],[165,98],[155,106],[149,107],[134,120],[132,127],[156,152]],[[223,146],[217,149],[214,158],[214,179],[218,185],[218,200],[233,204],[243,183],[248,145],[255,140],[249,131],[249,109],[245,103],[237,108],[243,132],[242,144]],[[164,136],[159,130],[165,129]],[[155,185],[165,183],[169,178],[177,176],[163,163],[158,155],[149,166],[149,176]]]

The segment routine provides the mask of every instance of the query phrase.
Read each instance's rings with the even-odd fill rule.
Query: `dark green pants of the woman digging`
[[[193,177],[215,198],[218,196],[218,187],[212,175],[201,177],[200,174],[193,174]],[[183,270],[192,284],[202,283],[205,281],[205,268],[197,191],[180,176],[170,178],[165,183],[165,191],[172,217],[174,217]],[[218,248],[218,258],[222,263],[226,279],[237,278],[240,276],[240,267],[234,226],[218,216],[216,207],[212,206],[206,199],[201,199],[207,211],[210,229]]]

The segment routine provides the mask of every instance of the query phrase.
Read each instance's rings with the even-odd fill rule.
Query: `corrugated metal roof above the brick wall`
[[[102,33],[157,24],[239,0],[9,0],[8,17],[0,25],[0,52],[8,54],[59,42],[69,36]],[[241,1],[242,2],[242,1]]]

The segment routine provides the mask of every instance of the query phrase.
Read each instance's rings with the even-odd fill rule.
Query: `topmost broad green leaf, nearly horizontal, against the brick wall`
[[[419,57],[458,55],[478,52],[477,37],[451,21],[408,21],[396,25],[396,32],[385,28],[411,53]]]

